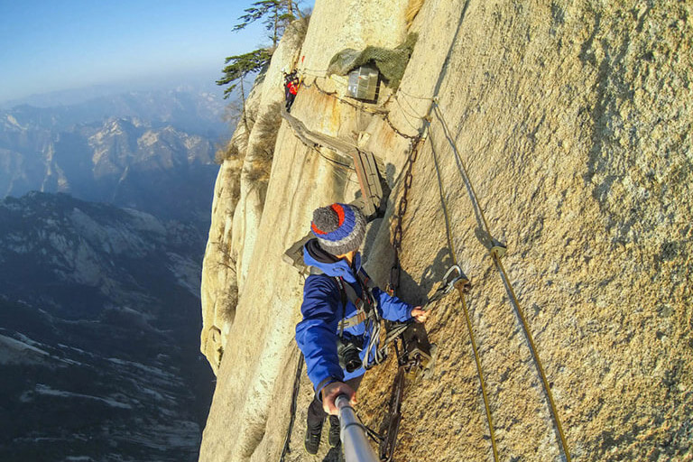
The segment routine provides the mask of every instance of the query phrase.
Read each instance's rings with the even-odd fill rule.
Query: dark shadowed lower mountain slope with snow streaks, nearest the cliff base
[[[0,460],[197,459],[204,245],[64,194],[0,201]]]

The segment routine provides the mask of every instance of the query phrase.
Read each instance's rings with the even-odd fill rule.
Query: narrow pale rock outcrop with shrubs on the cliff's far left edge
[[[283,69],[292,69],[299,59],[306,24],[287,28],[273,53],[269,69],[255,82],[245,102],[245,115],[226,150],[232,152],[222,163],[212,203],[212,224],[202,272],[201,350],[217,372],[236,315],[238,296],[243,291],[252,262],[257,229],[263,215],[269,180],[261,145],[267,140],[263,119],[277,114],[283,104]],[[264,82],[268,82],[265,84]],[[273,127],[276,132],[277,127]],[[272,134],[273,137],[276,133]]]

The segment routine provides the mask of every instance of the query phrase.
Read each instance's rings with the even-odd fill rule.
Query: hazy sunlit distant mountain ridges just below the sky
[[[171,90],[0,111],[0,197],[67,192],[208,223],[223,108]]]

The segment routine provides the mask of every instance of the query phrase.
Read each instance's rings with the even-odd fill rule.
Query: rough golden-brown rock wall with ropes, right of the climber
[[[690,5],[459,6],[440,107],[492,233],[509,247],[504,265],[568,446],[590,460],[690,457]],[[409,87],[420,46],[402,89],[431,95]],[[421,195],[405,221],[403,266],[426,289],[442,269],[434,152],[457,256],[475,283],[469,303],[502,458],[558,460],[526,338],[438,117],[414,173]],[[490,455],[468,335],[457,300],[448,303],[430,323],[439,374],[411,388],[405,406],[405,459]],[[439,420],[449,427],[431,431]]]

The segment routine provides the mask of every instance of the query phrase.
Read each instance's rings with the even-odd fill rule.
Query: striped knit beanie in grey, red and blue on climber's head
[[[329,254],[347,254],[358,250],[365,236],[365,217],[361,210],[348,204],[316,208],[310,229],[320,247]]]

